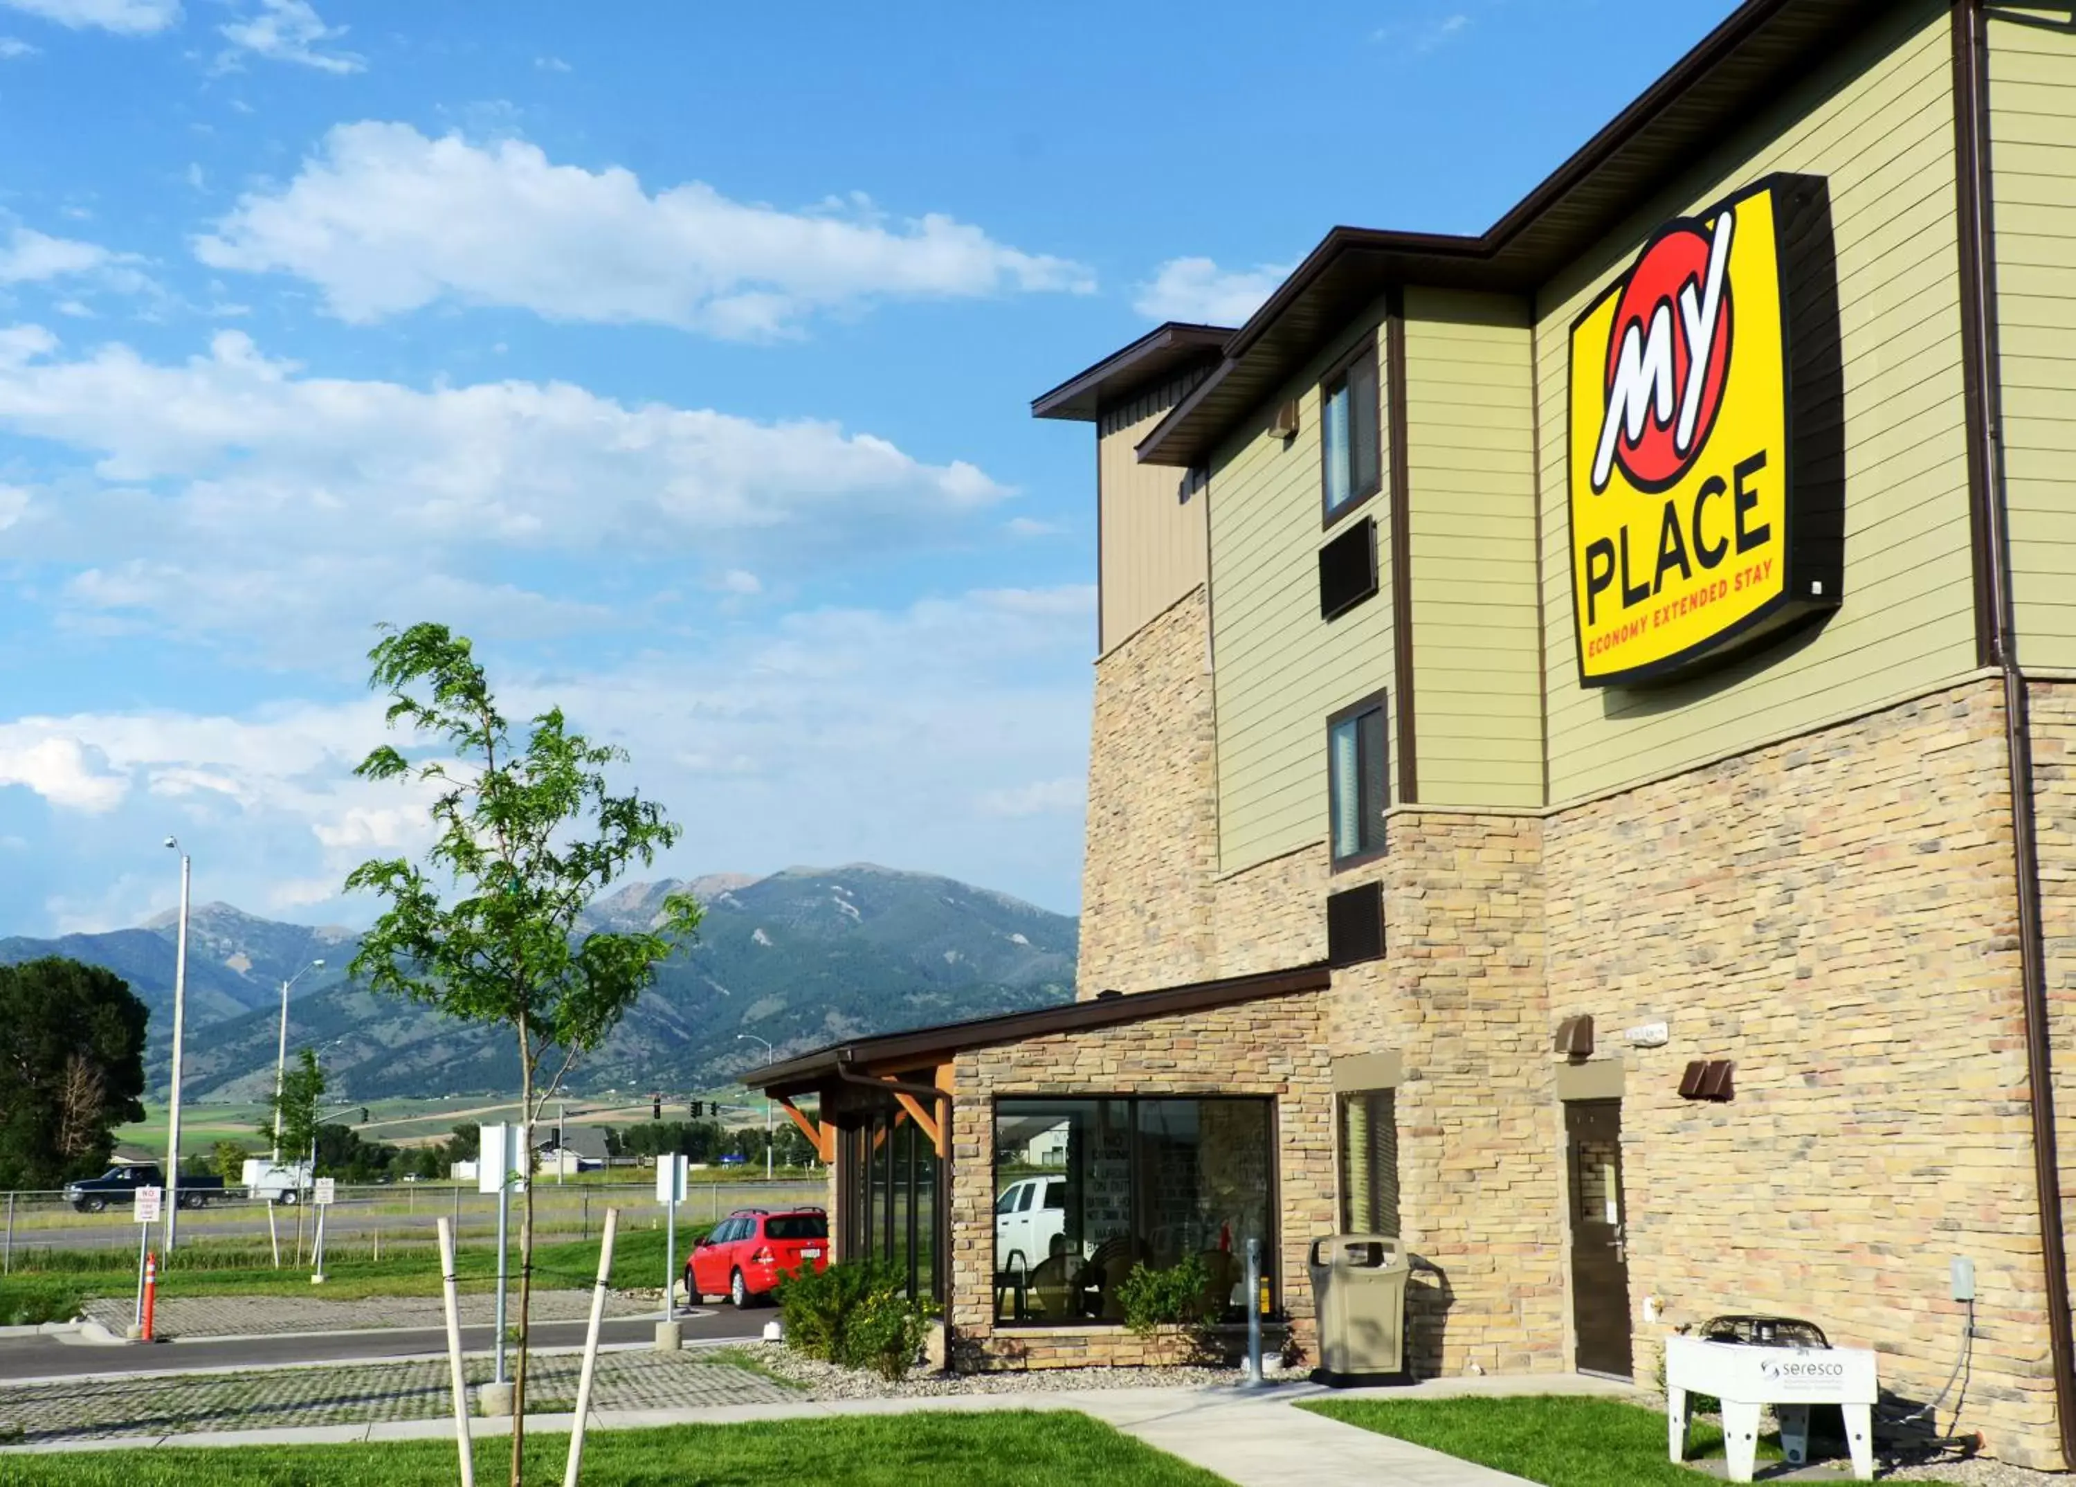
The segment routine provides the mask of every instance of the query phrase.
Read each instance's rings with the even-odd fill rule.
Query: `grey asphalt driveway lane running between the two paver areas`
[[[681,1317],[687,1344],[741,1342],[762,1335],[764,1323],[776,1313],[733,1306],[702,1308]],[[581,1348],[581,1321],[534,1323],[536,1348]],[[598,1333],[602,1344],[641,1344],[656,1337],[656,1317],[621,1317],[606,1321]],[[490,1352],[496,1340],[492,1327],[463,1327],[461,1346],[467,1352]],[[380,1331],[332,1331],[295,1337],[197,1337],[195,1342],[93,1346],[60,1337],[0,1340],[0,1383],[23,1379],[81,1379],[91,1375],[139,1373],[218,1373],[224,1369],[266,1369],[284,1362],[359,1362],[367,1358],[442,1356],[442,1327],[386,1327]]]

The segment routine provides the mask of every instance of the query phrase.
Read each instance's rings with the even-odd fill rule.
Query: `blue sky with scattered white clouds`
[[[1480,231],[1729,0],[0,0],[0,932],[363,920],[378,621],[685,824],[1073,910],[1092,432],[1335,222]],[[783,17],[783,19],[781,19]]]

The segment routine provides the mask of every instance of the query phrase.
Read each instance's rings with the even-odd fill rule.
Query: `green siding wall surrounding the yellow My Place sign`
[[[1551,797],[1750,748],[1974,667],[1947,6],[1900,4],[1540,295]],[[1578,685],[1565,519],[1572,320],[1667,216],[1829,177],[1846,361],[1846,600],[1814,638],[1657,690]]]

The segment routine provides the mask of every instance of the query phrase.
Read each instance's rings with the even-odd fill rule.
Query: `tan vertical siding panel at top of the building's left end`
[[[1102,521],[1100,648],[1127,642],[1146,621],[1204,582],[1204,492],[1179,469],[1142,465],[1133,447],[1194,378],[1104,409],[1096,424]]]

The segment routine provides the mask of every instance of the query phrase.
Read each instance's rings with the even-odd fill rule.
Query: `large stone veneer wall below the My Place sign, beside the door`
[[[1551,1013],[1673,1034],[1623,1094],[1640,1379],[1657,1296],[1667,1327],[1810,1317],[1931,1400],[1968,1254],[1966,1412],[1939,1427],[2057,1464],[2005,764],[1981,681],[1545,822]],[[1679,1099],[1702,1057],[1736,1059],[1731,1103]]]

